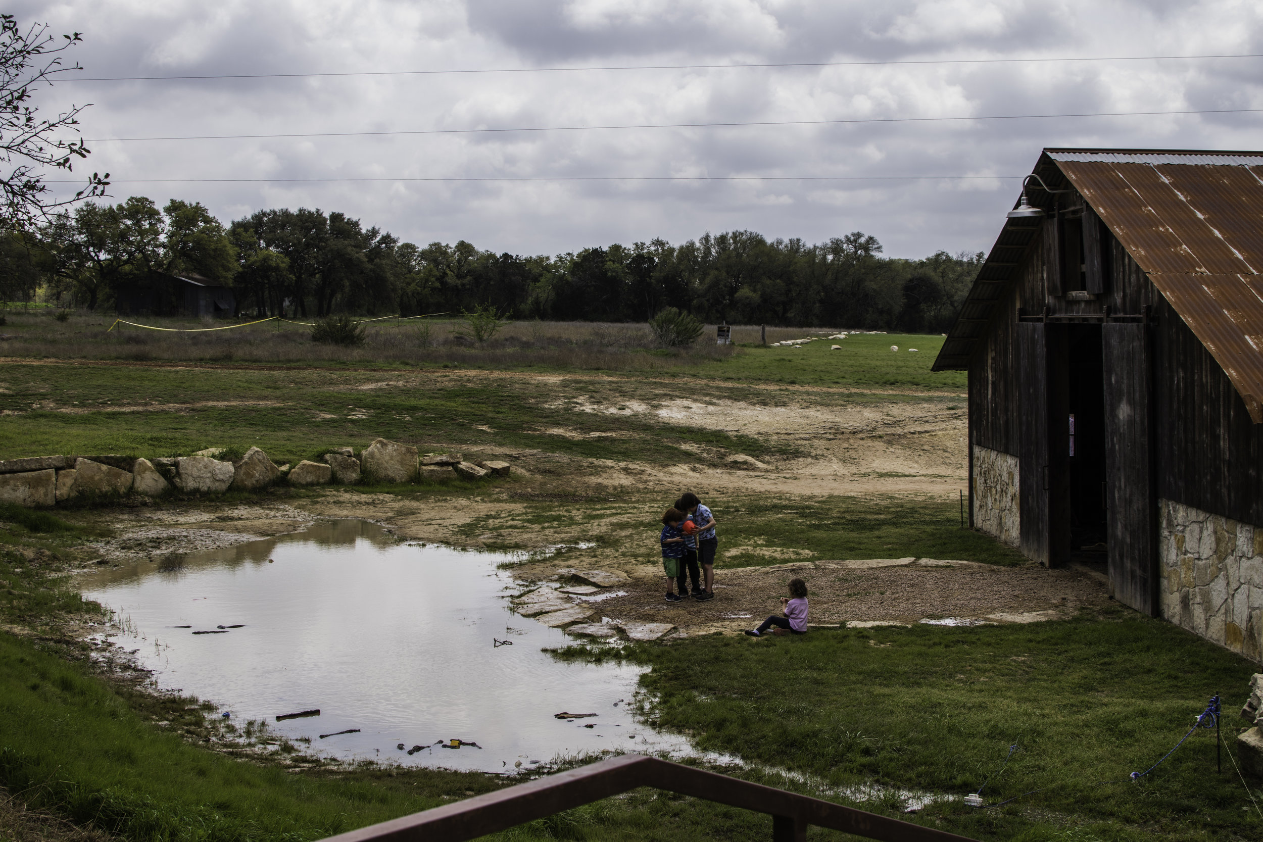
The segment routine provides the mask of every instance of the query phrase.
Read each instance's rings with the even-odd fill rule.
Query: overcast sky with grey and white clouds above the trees
[[[80,76],[1263,53],[1263,4],[1003,0],[19,0]],[[1263,109],[1263,58],[62,82],[85,138]],[[1043,146],[1259,149],[1263,114],[235,140],[96,140],[111,194],[342,211],[418,244],[557,254],[750,228],[988,250]],[[960,182],[124,179],[983,175]]]

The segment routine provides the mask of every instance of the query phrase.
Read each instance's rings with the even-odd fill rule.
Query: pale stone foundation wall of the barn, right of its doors
[[[1263,526],[1159,500],[1162,616],[1263,660]]]

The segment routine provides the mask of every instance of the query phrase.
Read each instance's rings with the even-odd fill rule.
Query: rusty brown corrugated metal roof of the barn
[[[1263,423],[1263,153],[1046,149],[1045,154],[1206,346],[1254,423]],[[975,292],[985,299],[999,294],[994,287],[975,284],[966,312]],[[959,321],[935,369],[967,365],[981,333],[967,319]]]

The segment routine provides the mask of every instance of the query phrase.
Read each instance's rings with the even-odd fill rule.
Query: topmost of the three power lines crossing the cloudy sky
[[[600,67],[493,67],[474,69],[437,71],[347,71],[336,73],[222,73],[203,76],[93,76],[86,78],[66,78],[64,82],[174,82],[191,80],[285,80],[285,78],[327,78],[355,76],[441,76],[476,73],[571,73],[591,71],[712,71],[712,69],[758,69],[775,67],[879,67],[890,64],[1018,64],[1052,62],[1158,62],[1194,61],[1215,58],[1263,58],[1263,53],[1226,53],[1207,56],[1065,56],[1048,58],[923,58],[890,59],[866,62],[775,62],[767,64],[621,64]]]

